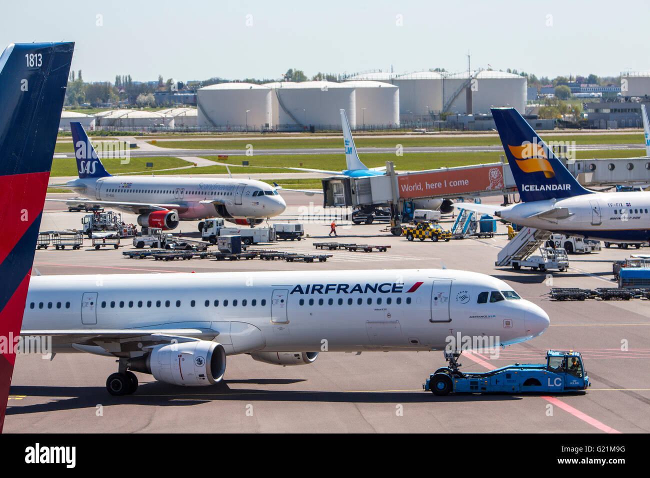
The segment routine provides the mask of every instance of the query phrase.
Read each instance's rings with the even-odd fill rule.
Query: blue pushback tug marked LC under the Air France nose
[[[580,352],[546,352],[546,364],[514,364],[484,373],[463,373],[456,364],[459,354],[447,354],[449,367],[437,369],[424,390],[443,396],[449,393],[567,393],[591,386]]]

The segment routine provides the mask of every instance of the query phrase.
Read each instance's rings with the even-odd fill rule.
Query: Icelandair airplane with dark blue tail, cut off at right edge
[[[521,203],[454,204],[530,228],[610,243],[650,240],[650,194],[596,193],[571,176],[513,108],[492,108]]]

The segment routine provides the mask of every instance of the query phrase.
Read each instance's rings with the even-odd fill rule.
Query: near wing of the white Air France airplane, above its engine
[[[120,356],[161,343],[177,343],[212,340],[219,332],[209,328],[155,328],[155,329],[70,329],[70,330],[21,330],[21,337],[50,336],[53,345],[72,343],[86,347],[101,347],[109,354]],[[81,348],[81,347],[80,347]],[[83,350],[83,349],[82,349]]]

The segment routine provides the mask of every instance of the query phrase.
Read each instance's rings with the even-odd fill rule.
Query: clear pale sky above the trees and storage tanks
[[[73,40],[85,81],[279,78],[445,68],[546,75],[650,70],[650,2],[3,2],[0,49]]]

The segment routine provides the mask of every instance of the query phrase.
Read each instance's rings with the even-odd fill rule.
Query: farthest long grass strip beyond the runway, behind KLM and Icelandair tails
[[[543,135],[545,141],[575,141],[576,144],[627,144],[638,143],[639,147],[644,144],[643,133],[629,135],[593,135],[584,136],[580,134],[571,136]],[[395,148],[396,144],[404,147],[410,146],[500,146],[498,137],[435,137],[415,136],[409,138],[355,138],[357,148]],[[245,150],[246,144],[252,144],[253,150],[278,150],[284,148],[343,148],[343,137],[341,139],[247,139],[247,140],[204,140],[204,141],[164,141],[158,140],[155,146],[161,148],[175,148],[187,150]]]

